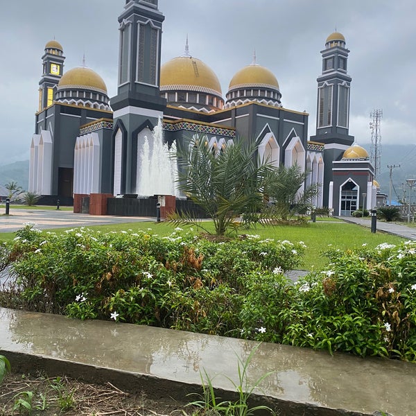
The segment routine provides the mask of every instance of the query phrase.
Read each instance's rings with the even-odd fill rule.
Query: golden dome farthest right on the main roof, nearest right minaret
[[[241,87],[263,87],[279,89],[276,77],[269,69],[259,64],[250,64],[240,69],[229,82],[229,89]]]

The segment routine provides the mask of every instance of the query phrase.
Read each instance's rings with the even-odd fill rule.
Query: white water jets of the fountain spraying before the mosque
[[[162,120],[159,118],[150,140],[144,137],[143,146],[138,146],[136,193],[139,196],[180,196],[176,189],[177,162],[176,145],[171,148],[164,143]]]

